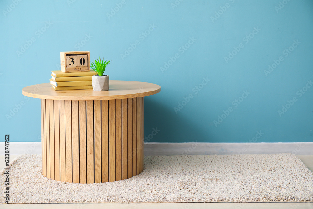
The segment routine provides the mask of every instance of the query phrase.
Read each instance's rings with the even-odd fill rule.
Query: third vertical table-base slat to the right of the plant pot
[[[127,179],[127,99],[122,100],[122,179]]]

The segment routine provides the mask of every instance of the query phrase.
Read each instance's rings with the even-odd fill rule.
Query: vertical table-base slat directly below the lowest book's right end
[[[94,183],[94,101],[86,101],[87,184]]]

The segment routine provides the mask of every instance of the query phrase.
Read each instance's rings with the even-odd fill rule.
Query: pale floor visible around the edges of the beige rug
[[[11,155],[11,160],[14,159],[16,155]],[[313,156],[298,156],[302,162],[313,171]],[[0,170],[4,168],[4,156],[0,156]],[[313,209],[313,203],[131,203],[131,204],[120,204],[120,203],[88,203],[88,204],[9,204],[9,205],[0,205],[0,208],[6,209],[29,209],[29,208],[38,208],[38,209],[55,209],[55,208],[66,208],[66,209],[100,209],[100,208],[121,208],[121,209],[263,209],[263,208],[277,208],[277,209]]]

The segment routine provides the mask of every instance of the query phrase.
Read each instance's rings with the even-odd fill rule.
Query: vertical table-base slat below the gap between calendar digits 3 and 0
[[[78,101],[72,101],[72,169],[73,183],[79,183],[79,125]]]

